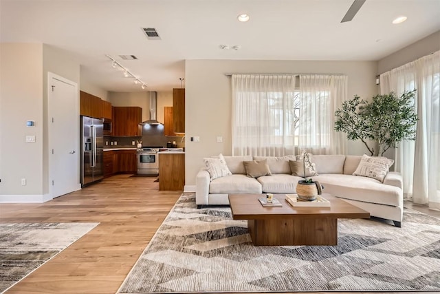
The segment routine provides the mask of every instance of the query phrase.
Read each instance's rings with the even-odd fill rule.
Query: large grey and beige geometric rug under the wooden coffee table
[[[440,291],[440,220],[338,220],[336,246],[254,246],[229,207],[184,193],[118,293]]]

